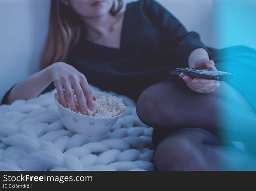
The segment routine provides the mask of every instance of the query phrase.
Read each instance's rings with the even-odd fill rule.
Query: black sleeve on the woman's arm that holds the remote
[[[173,67],[188,67],[189,56],[192,51],[201,48],[205,52],[201,56],[211,54],[198,33],[188,32],[179,20],[168,10],[154,0],[141,0],[145,16],[154,24],[164,38],[166,51],[175,59]],[[192,53],[194,55],[195,53]],[[198,54],[198,51],[196,51]],[[193,56],[194,58],[194,56]]]

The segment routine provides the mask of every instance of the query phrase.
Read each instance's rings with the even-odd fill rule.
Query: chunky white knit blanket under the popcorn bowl
[[[126,111],[104,135],[86,136],[63,126],[55,92],[0,106],[0,170],[154,170],[153,128],[133,100],[102,91],[122,98]]]

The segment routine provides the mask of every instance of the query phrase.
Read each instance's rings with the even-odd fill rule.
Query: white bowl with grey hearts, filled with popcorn
[[[117,119],[125,112],[126,106],[122,102],[122,98],[117,98],[116,96],[92,90],[93,95],[96,97],[96,100],[93,100],[93,110],[90,111],[89,108],[86,108],[87,113],[86,115],[83,115],[80,112],[79,103],[77,101],[76,94],[74,93],[74,89],[72,89],[72,91],[78,113],[70,109],[68,101],[68,107],[63,107],[59,103],[57,93],[54,94],[54,101],[57,105],[61,122],[73,133],[81,133],[88,136],[102,135],[112,128]]]

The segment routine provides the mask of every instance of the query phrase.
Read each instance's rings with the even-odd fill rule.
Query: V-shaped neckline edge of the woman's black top
[[[120,47],[119,48],[114,48],[114,47],[109,47],[109,46],[105,46],[105,45],[102,45],[102,44],[98,44],[98,43],[95,43],[95,42],[92,42],[90,40],[87,40],[87,39],[83,39],[86,43],[89,43],[95,47],[101,47],[101,48],[104,48],[104,49],[112,49],[112,50],[121,50],[123,48],[123,38],[124,38],[124,32],[125,32],[125,25],[126,25],[126,20],[127,20],[127,13],[128,13],[128,5],[129,3],[126,4],[126,9],[124,11],[124,15],[123,15],[123,20],[122,20],[122,26],[121,26],[121,34],[120,34]]]

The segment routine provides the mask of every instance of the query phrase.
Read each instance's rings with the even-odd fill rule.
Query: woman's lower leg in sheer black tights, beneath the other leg
[[[161,140],[153,154],[156,170],[256,170],[256,156],[231,147],[202,128],[184,128]]]

